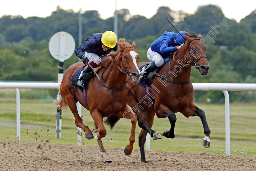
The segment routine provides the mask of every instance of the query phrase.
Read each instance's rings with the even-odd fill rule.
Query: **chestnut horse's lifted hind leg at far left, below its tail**
[[[71,93],[71,92],[70,92]],[[68,103],[69,109],[71,110],[71,112],[73,113],[74,117],[75,117],[75,124],[77,127],[80,127],[81,129],[84,130],[85,132],[85,138],[86,139],[93,139],[93,134],[91,132],[91,130],[89,129],[88,126],[83,124],[82,118],[79,116],[77,108],[76,108],[76,100],[74,98],[74,96],[65,96],[66,101]]]

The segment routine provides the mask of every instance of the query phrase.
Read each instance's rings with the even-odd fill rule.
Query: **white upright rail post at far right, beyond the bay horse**
[[[230,155],[229,93],[226,90],[222,92],[225,96],[226,155]]]

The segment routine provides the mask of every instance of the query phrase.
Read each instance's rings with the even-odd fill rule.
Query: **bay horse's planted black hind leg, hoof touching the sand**
[[[151,128],[153,125],[153,121],[154,121],[154,116],[155,116],[155,112],[150,112],[148,111],[148,113],[145,114],[148,126]],[[150,161],[146,161],[146,156],[145,156],[145,149],[144,149],[144,145],[145,145],[145,141],[146,141],[146,137],[147,137],[148,132],[145,131],[144,129],[141,129],[140,135],[139,135],[139,147],[140,147],[140,158],[141,158],[141,162],[144,163],[148,163]],[[159,133],[158,133],[159,134]],[[160,134],[159,134],[160,136]],[[161,136],[160,136],[161,137]],[[161,137],[162,138],[162,137]],[[160,139],[161,139],[160,138]]]

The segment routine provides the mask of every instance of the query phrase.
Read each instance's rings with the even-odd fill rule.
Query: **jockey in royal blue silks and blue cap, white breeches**
[[[182,35],[187,32],[180,31]],[[147,51],[148,60],[151,63],[145,70],[141,71],[140,80],[142,81],[150,72],[164,64],[164,58],[177,51],[185,43],[185,39],[179,33],[165,31],[161,37],[158,37]]]

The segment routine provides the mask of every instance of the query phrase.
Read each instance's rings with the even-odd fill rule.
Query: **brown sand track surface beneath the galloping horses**
[[[112,163],[104,163],[92,146],[0,140],[0,170],[256,171],[256,158],[211,155],[206,152],[146,151],[147,159],[152,162],[141,163],[139,150],[133,150],[130,156],[124,154],[123,148],[106,148],[106,151]],[[92,161],[87,162],[83,154]]]

